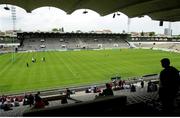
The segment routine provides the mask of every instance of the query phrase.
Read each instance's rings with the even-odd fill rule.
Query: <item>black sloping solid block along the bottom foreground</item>
[[[67,104],[57,107],[32,110],[24,116],[116,116],[126,105],[126,96],[105,97],[102,99]]]

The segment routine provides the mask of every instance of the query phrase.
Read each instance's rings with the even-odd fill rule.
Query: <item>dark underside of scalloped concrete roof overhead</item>
[[[0,4],[11,4],[27,12],[52,6],[71,14],[77,9],[91,9],[101,16],[122,12],[128,17],[148,15],[153,20],[180,21],[179,0],[0,0]]]

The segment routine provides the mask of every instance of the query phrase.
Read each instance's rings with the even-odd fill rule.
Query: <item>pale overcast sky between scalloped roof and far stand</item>
[[[0,30],[11,30],[11,11],[4,10],[5,5],[0,5]],[[10,6],[9,6],[10,7]],[[98,13],[88,10],[88,14],[83,14],[84,10],[76,10],[71,15],[54,7],[41,7],[27,13],[24,9],[16,7],[16,29],[23,31],[51,31],[52,28],[64,27],[65,32],[81,30],[83,32],[109,29],[114,33],[127,31],[128,17],[121,13],[120,16],[112,18],[113,14],[100,16]],[[159,21],[151,20],[150,17],[131,18],[130,32],[164,33],[164,28],[168,28],[169,22],[164,22],[159,26]],[[180,22],[173,22],[171,26],[173,35],[180,34]]]

